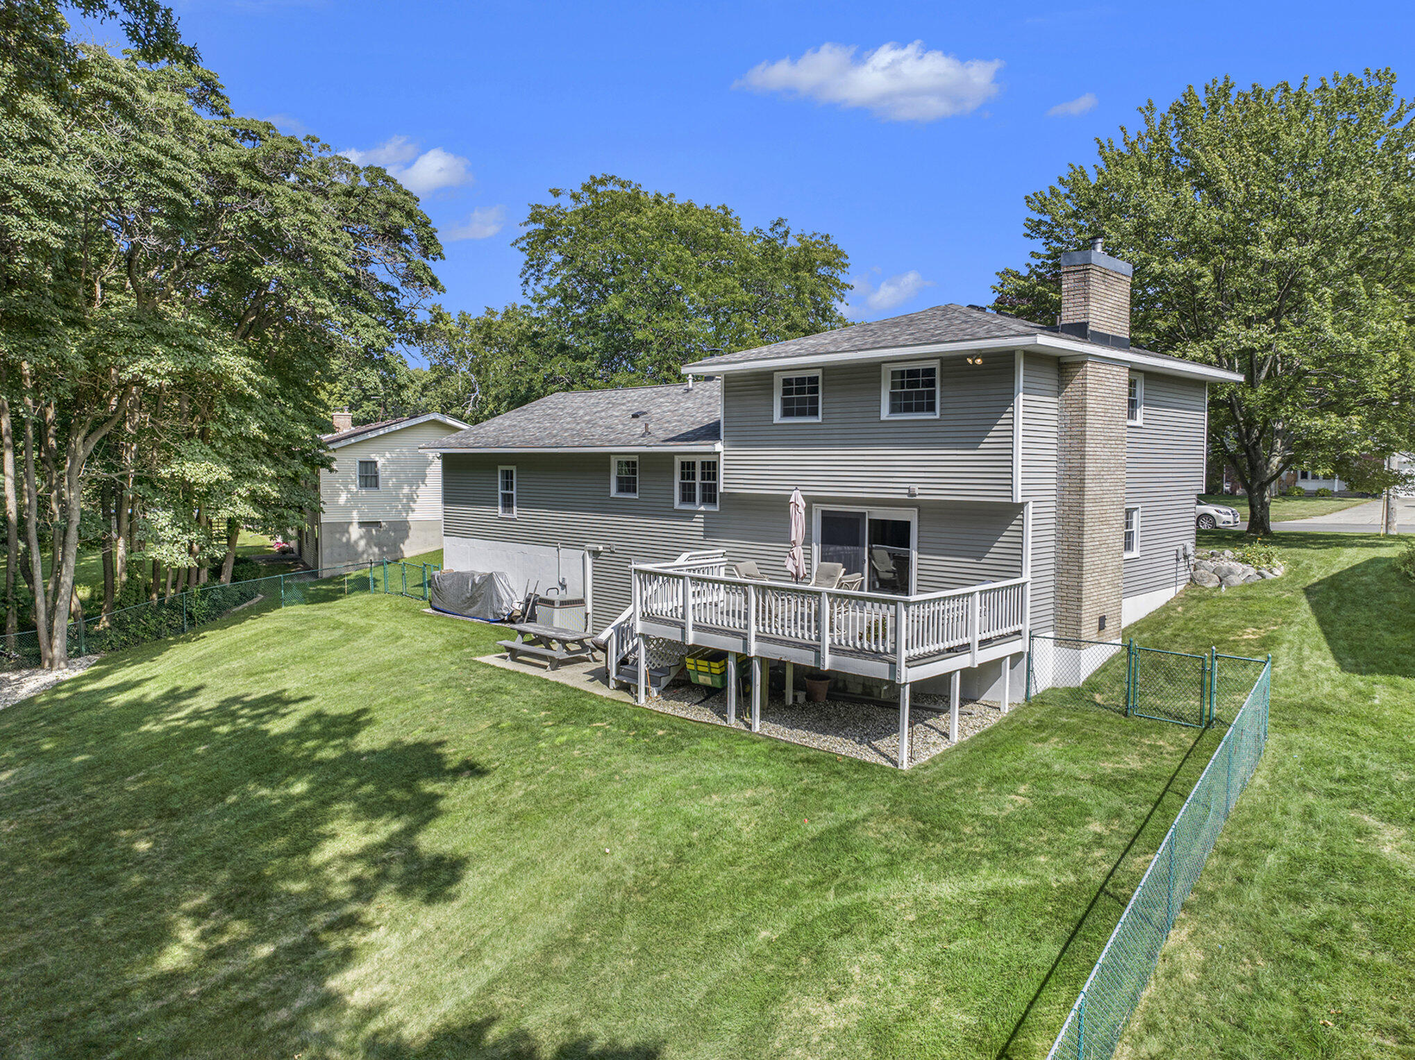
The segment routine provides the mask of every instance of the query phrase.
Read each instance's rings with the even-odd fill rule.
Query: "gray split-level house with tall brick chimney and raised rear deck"
[[[450,434],[446,563],[584,596],[654,651],[1016,698],[1029,631],[1114,641],[1186,583],[1207,385],[1242,378],[1131,348],[1131,272],[1065,255],[1057,328],[937,306]],[[860,593],[781,584],[794,488],[808,566]]]

